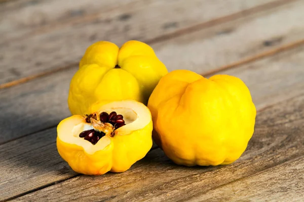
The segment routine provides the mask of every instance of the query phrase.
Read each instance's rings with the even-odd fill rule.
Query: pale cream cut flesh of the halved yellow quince
[[[111,112],[116,112],[117,115]],[[118,115],[122,115],[123,118]],[[117,120],[124,120],[125,123]],[[124,136],[128,139],[132,134],[140,133],[139,131],[149,123],[151,114],[148,108],[134,100],[96,104],[91,107],[89,115],[74,115],[59,124],[57,138],[61,142],[83,148],[87,154],[94,154],[111,148],[112,142],[120,141]]]

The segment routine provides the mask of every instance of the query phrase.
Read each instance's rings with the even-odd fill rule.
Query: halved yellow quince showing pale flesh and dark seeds
[[[111,102],[85,117],[62,120],[57,127],[57,149],[75,172],[124,172],[151,148],[152,129],[150,111],[142,103]]]

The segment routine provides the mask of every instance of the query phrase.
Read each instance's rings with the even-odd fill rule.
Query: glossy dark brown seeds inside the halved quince
[[[91,123],[91,118],[97,120],[96,114],[86,115],[85,121]],[[125,124],[123,115],[118,115],[116,112],[111,112],[110,114],[102,112],[99,115],[99,119],[103,123],[110,123],[115,129],[118,129]],[[96,144],[98,140],[105,135],[104,132],[99,132],[97,130],[85,130],[79,134],[79,137],[84,137],[85,140],[90,141],[92,144]]]

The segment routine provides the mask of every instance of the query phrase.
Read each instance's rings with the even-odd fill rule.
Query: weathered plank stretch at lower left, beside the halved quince
[[[56,135],[52,128],[0,146],[0,200],[79,175],[60,158]]]

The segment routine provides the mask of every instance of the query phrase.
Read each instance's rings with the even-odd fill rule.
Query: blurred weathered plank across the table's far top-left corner
[[[37,29],[58,29],[73,24],[71,21],[88,21],[88,17],[98,19],[118,10],[124,12],[124,7],[134,2],[137,0],[12,1],[0,7],[0,38],[4,42],[30,35]]]

